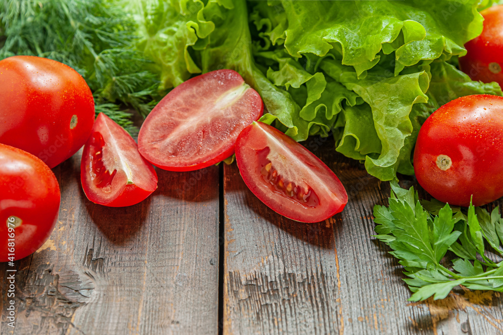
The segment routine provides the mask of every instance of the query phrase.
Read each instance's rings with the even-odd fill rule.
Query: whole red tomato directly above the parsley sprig
[[[503,97],[468,95],[437,109],[414,150],[417,181],[451,205],[481,206],[503,196]]]

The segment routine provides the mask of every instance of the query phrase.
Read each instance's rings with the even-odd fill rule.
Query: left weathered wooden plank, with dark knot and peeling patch
[[[83,194],[79,157],[54,169],[59,222],[42,250],[16,262],[16,327],[3,308],[2,333],[214,333],[218,167],[157,170],[149,198],[108,208]]]

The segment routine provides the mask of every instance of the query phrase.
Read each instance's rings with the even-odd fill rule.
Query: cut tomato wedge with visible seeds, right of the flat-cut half
[[[348,194],[322,161],[279,130],[262,122],[246,127],[236,142],[244,183],[275,212],[301,222],[339,213]]]

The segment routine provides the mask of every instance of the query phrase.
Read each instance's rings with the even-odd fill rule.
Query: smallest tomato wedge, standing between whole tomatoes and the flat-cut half
[[[103,113],[84,146],[80,181],[89,200],[110,207],[134,205],[157,188],[157,174],[136,142]]]

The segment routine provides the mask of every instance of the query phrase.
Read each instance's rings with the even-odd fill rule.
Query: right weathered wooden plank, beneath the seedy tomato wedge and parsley
[[[499,293],[455,292],[409,303],[402,268],[371,236],[389,183],[307,142],[349,193],[345,210],[316,224],[282,217],[224,169],[224,333],[500,334]],[[315,142],[314,142],[315,143]],[[311,147],[309,147],[309,144]]]

